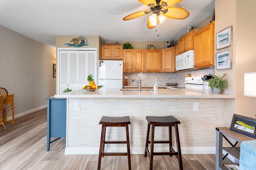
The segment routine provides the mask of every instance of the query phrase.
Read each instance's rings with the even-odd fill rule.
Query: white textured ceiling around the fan
[[[0,25],[55,48],[56,35],[99,35],[102,41],[170,41],[184,35],[214,11],[215,0],[183,0],[174,5],[190,15],[166,18],[148,29],[147,14],[125,16],[150,7],[138,0],[0,0]],[[159,36],[158,36],[159,35]]]

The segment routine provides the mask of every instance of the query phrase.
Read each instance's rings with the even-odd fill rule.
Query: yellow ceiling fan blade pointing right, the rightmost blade
[[[164,9],[168,9],[168,12],[166,12],[165,14],[161,12],[161,14],[168,18],[182,20],[189,16],[189,12],[180,7],[171,6],[171,7],[166,7]]]

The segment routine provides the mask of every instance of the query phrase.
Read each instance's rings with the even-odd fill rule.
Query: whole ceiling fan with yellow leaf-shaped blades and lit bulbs
[[[189,12],[183,8],[173,6],[182,0],[138,0],[142,4],[150,6],[150,10],[135,12],[123,18],[123,20],[131,20],[144,16],[150,12],[153,14],[148,19],[148,28],[154,28],[158,22],[163,23],[166,17],[182,20],[189,16]]]

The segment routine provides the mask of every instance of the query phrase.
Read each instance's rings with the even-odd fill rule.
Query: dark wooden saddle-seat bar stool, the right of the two
[[[178,124],[180,124],[180,121],[176,119],[173,116],[162,116],[162,117],[156,117],[156,116],[146,116],[146,119],[148,121],[148,130],[147,130],[147,137],[146,137],[146,146],[145,146],[145,152],[144,156],[150,157],[150,167],[149,169],[153,169],[153,156],[154,155],[176,155],[176,157],[179,160],[179,167],[180,170],[183,170],[182,166],[182,158],[181,158],[181,152],[180,152],[180,138],[179,138],[179,132],[178,132]],[[152,133],[151,133],[151,141],[149,141],[149,133],[150,133],[150,125],[152,125]],[[154,141],[154,132],[156,126],[168,126],[169,127],[169,140],[168,141]],[[172,127],[175,127],[175,135],[176,135],[176,145],[177,145],[177,152],[172,148]],[[150,146],[150,152],[148,150],[148,144],[151,144]],[[154,143],[169,143],[169,152],[154,152]]]

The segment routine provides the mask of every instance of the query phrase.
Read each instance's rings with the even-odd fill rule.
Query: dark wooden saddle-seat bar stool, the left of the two
[[[101,138],[100,138],[100,154],[98,160],[98,170],[100,170],[101,158],[103,156],[128,156],[128,167],[131,170],[131,154],[130,154],[130,140],[129,140],[129,129],[128,125],[131,124],[130,117],[108,117],[102,116],[100,123],[102,124]],[[106,137],[106,127],[126,127],[126,141],[105,141]],[[105,144],[116,144],[116,143],[126,143],[127,152],[117,153],[117,152],[104,152]]]

